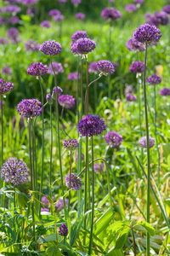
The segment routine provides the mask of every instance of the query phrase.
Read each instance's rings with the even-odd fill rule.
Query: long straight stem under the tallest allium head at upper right
[[[146,221],[150,223],[150,139],[149,139],[149,123],[148,123],[148,112],[147,112],[147,98],[146,98],[146,59],[147,59],[147,43],[145,43],[145,54],[144,54],[144,115],[145,115],[145,128],[146,128],[146,141],[147,141],[147,209],[146,209]],[[150,233],[146,234],[146,256],[150,256]]]

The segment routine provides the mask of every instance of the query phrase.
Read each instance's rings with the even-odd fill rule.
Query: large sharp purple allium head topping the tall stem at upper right
[[[161,31],[156,26],[144,23],[133,32],[133,37],[140,43],[156,43],[161,38]]]

